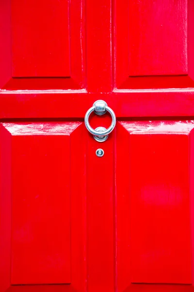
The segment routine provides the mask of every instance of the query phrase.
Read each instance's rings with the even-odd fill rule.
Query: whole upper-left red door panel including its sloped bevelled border
[[[0,2],[0,89],[85,85],[83,0]]]

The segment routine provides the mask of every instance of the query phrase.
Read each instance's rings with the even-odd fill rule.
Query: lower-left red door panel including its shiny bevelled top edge
[[[74,186],[73,181],[75,176],[82,179],[82,170],[75,167],[75,159],[76,163],[83,160],[83,153],[80,158],[75,154],[80,124],[1,124],[1,141],[7,142],[6,148],[1,148],[0,156],[6,158],[1,160],[1,171],[8,167],[8,161],[11,164],[8,164],[11,171],[5,173],[6,180],[1,180],[1,189],[6,190],[6,193],[2,192],[6,198],[1,198],[0,203],[6,216],[1,221],[2,228],[3,222],[6,222],[2,242],[12,239],[11,254],[10,243],[7,242],[9,249],[2,248],[0,255],[1,259],[5,257],[5,262],[1,261],[2,272],[6,275],[11,272],[8,282],[11,281],[12,285],[76,285],[80,282],[80,276],[75,276],[74,269],[71,271],[75,256],[76,261],[79,259],[77,267],[81,265],[83,256],[82,211],[79,208],[76,212],[77,203],[82,205],[82,182],[77,180]],[[74,154],[71,157],[72,149]],[[76,199],[70,190],[73,190]],[[74,214],[78,217],[75,218]],[[81,267],[79,274],[83,273],[82,270],[84,268]],[[5,278],[0,278],[0,284],[4,282]]]

